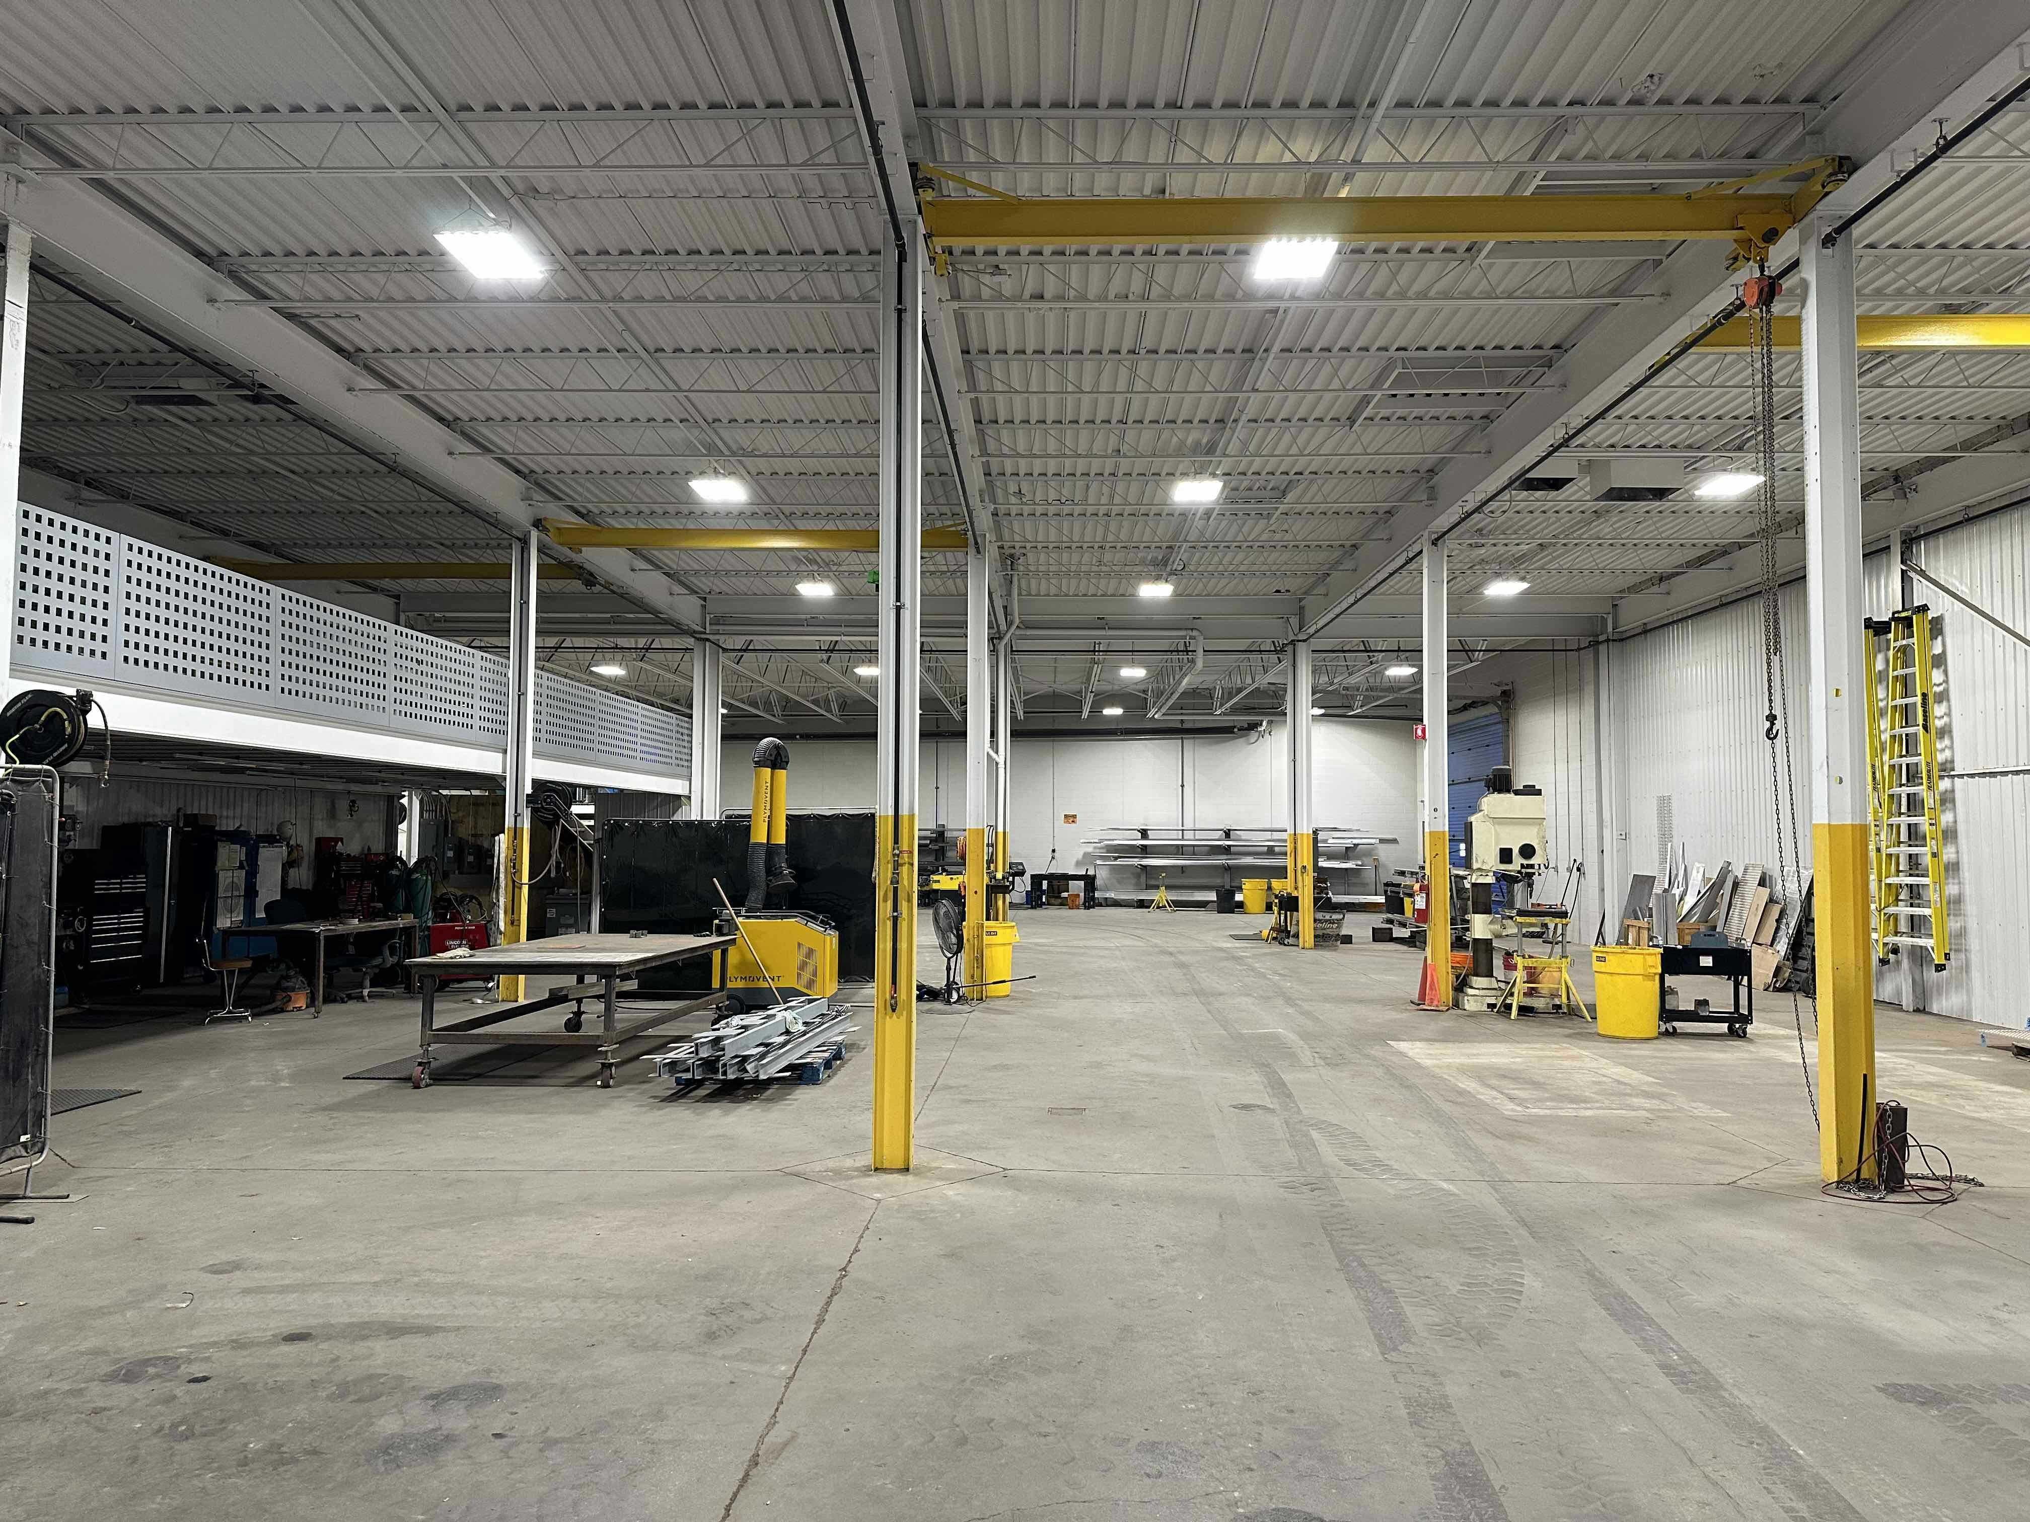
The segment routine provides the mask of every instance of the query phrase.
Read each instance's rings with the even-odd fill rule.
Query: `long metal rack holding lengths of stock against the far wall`
[[[1380,848],[1397,838],[1340,826],[1315,834],[1317,875],[1332,901],[1380,907]],[[1110,824],[1080,844],[1092,856],[1100,903],[1149,903],[1159,887],[1179,903],[1212,903],[1216,889],[1238,893],[1244,877],[1283,877],[1289,838],[1269,826]]]

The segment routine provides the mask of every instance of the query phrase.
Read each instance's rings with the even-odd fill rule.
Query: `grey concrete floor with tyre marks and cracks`
[[[1419,1013],[1409,950],[1019,923],[1035,982],[922,1015],[907,1177],[865,1051],[672,1102],[339,1082],[406,1000],[69,1037],[144,1094],[0,1226],[6,1514],[2026,1514],[2030,1067],[1965,1027],[1884,1013],[1884,1092],[1987,1187],[1835,1203],[1788,1000],[1608,1043]]]

